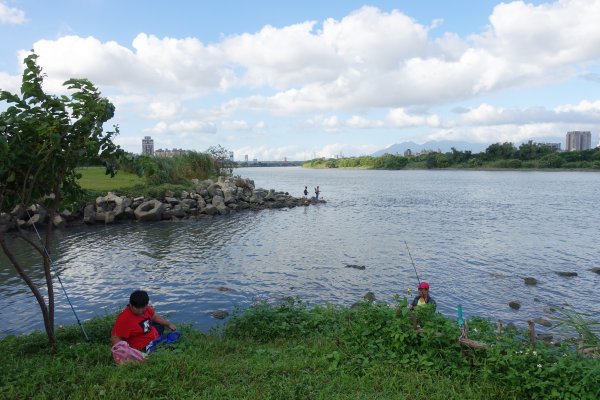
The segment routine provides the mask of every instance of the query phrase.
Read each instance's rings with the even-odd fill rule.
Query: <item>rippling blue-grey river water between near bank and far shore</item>
[[[136,288],[174,322],[201,329],[211,311],[300,296],[350,305],[430,282],[438,309],[514,321],[570,304],[600,318],[600,173],[247,168],[257,187],[327,204],[181,222],[56,233],[56,268],[81,319],[121,309]],[[27,256],[29,250],[21,250]],[[35,259],[33,259],[35,260]],[[365,265],[365,270],[346,268]],[[31,261],[30,270],[39,270]],[[574,271],[577,277],[559,277]],[[42,274],[34,273],[42,282]],[[524,277],[537,286],[526,286]],[[219,287],[230,291],[219,291]],[[58,290],[58,288],[57,288]],[[74,317],[57,292],[57,323]],[[519,311],[507,303],[519,300]],[[0,337],[43,329],[37,303],[0,255]]]

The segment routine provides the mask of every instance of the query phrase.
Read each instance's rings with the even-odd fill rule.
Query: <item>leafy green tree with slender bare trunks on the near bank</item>
[[[73,206],[83,191],[76,168],[92,159],[104,159],[107,174],[114,176],[115,163],[122,154],[112,139],[118,127],[104,132],[103,124],[114,115],[115,107],[86,79],[70,79],[63,85],[74,91],[70,97],[44,93],[44,75],[35,53],[25,60],[20,96],[0,90],[6,111],[0,114],[0,212],[31,205],[46,208],[52,221],[61,206]],[[41,221],[43,222],[43,221]],[[16,236],[40,254],[48,298],[23,269],[0,232],[0,247],[35,296],[48,340],[54,347],[54,290],[49,246],[52,223],[41,244],[20,229]]]

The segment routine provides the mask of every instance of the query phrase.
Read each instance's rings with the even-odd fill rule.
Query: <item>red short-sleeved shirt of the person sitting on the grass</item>
[[[127,306],[117,317],[112,336],[120,337],[134,349],[144,350],[148,343],[159,337],[158,331],[152,326],[153,316],[154,310],[149,306],[146,306],[142,315],[134,314]]]

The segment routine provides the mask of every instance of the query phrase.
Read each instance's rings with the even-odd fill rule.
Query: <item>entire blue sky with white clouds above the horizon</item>
[[[600,132],[600,0],[0,0],[0,89],[33,49],[48,93],[87,78],[123,149],[238,161],[431,140]],[[0,110],[6,104],[0,104]]]

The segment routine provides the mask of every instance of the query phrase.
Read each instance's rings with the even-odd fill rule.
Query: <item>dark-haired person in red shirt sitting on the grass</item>
[[[149,301],[148,293],[143,290],[131,293],[129,304],[119,314],[113,326],[110,338],[113,345],[124,340],[134,349],[143,351],[162,335],[164,327],[176,330],[175,325],[148,306]]]

